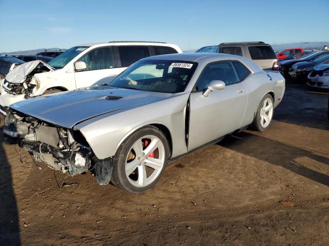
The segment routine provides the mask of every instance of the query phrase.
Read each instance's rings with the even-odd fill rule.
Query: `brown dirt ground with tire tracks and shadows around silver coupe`
[[[172,162],[143,195],[39,170],[1,136],[0,245],[329,245],[327,98],[288,85],[268,131]]]

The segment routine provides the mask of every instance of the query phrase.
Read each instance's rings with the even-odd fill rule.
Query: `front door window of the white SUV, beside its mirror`
[[[87,69],[84,71],[114,68],[112,48],[99,48],[90,51],[79,61],[84,61]]]

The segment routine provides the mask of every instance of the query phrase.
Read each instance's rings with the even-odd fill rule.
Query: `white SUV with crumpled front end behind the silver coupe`
[[[135,61],[161,54],[182,53],[177,45],[160,42],[109,42],[72,47],[48,64],[36,60],[8,73],[0,87],[0,112],[30,97],[108,83]]]

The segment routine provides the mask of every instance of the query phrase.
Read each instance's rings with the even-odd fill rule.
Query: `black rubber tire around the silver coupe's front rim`
[[[131,150],[132,146],[134,145],[135,141],[137,139],[145,136],[145,135],[154,135],[158,137],[165,148],[165,163],[163,164],[163,168],[160,171],[160,174],[158,177],[148,186],[145,187],[136,187],[132,185],[129,180],[127,179],[125,175],[125,165],[126,165],[126,157],[129,151]],[[154,185],[157,183],[157,181],[161,178],[163,171],[165,171],[167,162],[168,162],[168,155],[169,155],[169,144],[166,136],[156,127],[153,126],[147,126],[143,127],[134,133],[132,133],[129,137],[127,137],[126,140],[122,142],[119,149],[117,150],[117,153],[114,156],[113,159],[113,172],[112,172],[112,178],[111,180],[113,183],[130,193],[140,194],[144,193],[148,189],[151,189],[154,187]]]

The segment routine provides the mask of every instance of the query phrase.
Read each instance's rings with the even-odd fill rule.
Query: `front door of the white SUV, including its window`
[[[77,88],[108,83],[111,77],[119,74],[115,67],[111,47],[100,47],[82,56],[78,61],[84,61],[86,69],[75,71]]]

